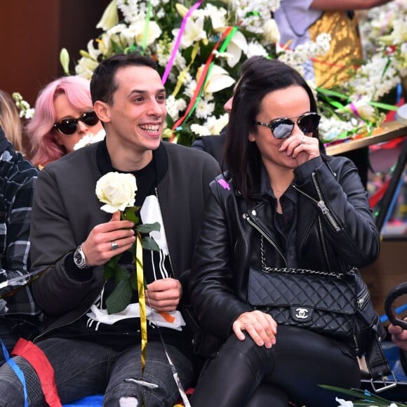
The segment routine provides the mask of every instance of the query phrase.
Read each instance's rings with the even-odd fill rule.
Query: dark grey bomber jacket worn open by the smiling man
[[[111,215],[100,210],[95,185],[104,175],[97,165],[98,145],[81,148],[55,161],[39,174],[32,205],[32,268],[44,270],[32,288],[44,310],[45,332],[79,319],[103,285],[103,266],[81,269],[75,278],[66,260],[95,225]],[[201,225],[209,182],[220,173],[204,152],[161,142],[154,152],[157,196],[161,206],[171,266],[182,283],[182,303],[188,303],[189,270]]]

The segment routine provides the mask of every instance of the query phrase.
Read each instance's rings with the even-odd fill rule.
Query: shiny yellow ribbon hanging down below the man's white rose
[[[140,328],[141,328],[141,377],[145,368],[145,352],[147,350],[147,314],[145,311],[145,286],[144,272],[142,268],[142,243],[141,235],[137,234],[135,243],[135,262],[137,273],[138,304],[140,306]]]

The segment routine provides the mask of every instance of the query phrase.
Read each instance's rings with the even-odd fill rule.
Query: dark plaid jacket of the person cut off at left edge
[[[38,171],[15,152],[0,127],[0,284],[29,273],[29,221]],[[22,279],[0,290],[0,316],[38,314]],[[20,290],[19,290],[20,288]],[[12,293],[11,295],[7,295]]]

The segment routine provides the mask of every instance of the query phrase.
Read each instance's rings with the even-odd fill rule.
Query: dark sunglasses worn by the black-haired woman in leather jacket
[[[319,126],[319,120],[321,116],[315,112],[309,112],[302,114],[298,121],[298,127],[302,133],[314,133]],[[256,121],[256,124],[263,127],[268,127],[272,131],[272,135],[275,138],[288,138],[293,133],[295,121],[291,120],[291,117],[281,117],[281,119],[274,119],[269,123],[262,123],[262,121]]]

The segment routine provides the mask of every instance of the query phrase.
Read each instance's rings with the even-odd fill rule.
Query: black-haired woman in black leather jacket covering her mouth
[[[338,394],[318,385],[359,387],[354,343],[277,326],[249,303],[249,269],[348,272],[378,258],[379,234],[354,164],[319,151],[305,80],[278,60],[256,63],[236,88],[228,171],[211,182],[196,243],[190,298],[204,328],[196,352],[213,356],[191,403],[336,406]],[[223,345],[209,348],[216,340]]]

